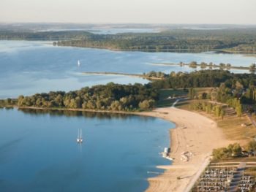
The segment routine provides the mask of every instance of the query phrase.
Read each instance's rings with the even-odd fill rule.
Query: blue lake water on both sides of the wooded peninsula
[[[80,66],[77,63],[80,61]],[[249,66],[255,57],[224,53],[145,53],[51,42],[0,41],[0,98],[148,80],[81,72],[191,72],[152,63],[206,61]],[[239,72],[238,70],[233,72]],[[1,191],[144,191],[174,124],[158,118],[91,112],[0,109]],[[85,142],[76,142],[82,128]],[[149,172],[149,173],[148,173]]]

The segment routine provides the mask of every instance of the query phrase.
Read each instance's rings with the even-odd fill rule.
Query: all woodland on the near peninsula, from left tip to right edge
[[[188,89],[190,99],[211,99],[234,107],[241,115],[241,104],[256,103],[256,74],[233,74],[223,69],[201,70],[190,73],[148,72],[147,76],[162,77],[141,85],[119,85],[113,82],[107,85],[95,85],[78,91],[50,91],[33,96],[19,96],[18,99],[2,99],[0,105],[18,107],[72,108],[84,110],[150,110],[159,99],[159,89]],[[196,95],[194,88],[212,88],[211,93]],[[215,109],[217,116],[222,116],[222,108],[213,104],[206,106],[195,103],[194,110]],[[215,107],[215,108],[214,108]]]

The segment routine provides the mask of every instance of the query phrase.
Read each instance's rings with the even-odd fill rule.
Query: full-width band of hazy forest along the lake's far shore
[[[255,52],[256,28],[171,29],[159,33],[92,34],[86,31],[0,31],[0,39],[51,40],[53,45],[110,50]]]

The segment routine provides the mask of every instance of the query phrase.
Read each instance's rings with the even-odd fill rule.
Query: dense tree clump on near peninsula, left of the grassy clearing
[[[19,107],[48,107],[89,110],[148,110],[154,107],[157,91],[149,85],[119,85],[113,82],[78,91],[50,91],[19,96]]]

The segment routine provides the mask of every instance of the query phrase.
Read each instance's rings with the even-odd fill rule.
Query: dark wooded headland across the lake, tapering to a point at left
[[[256,29],[188,30],[174,29],[162,33],[98,35],[87,39],[58,42],[58,45],[106,47],[116,50],[234,50],[254,51]],[[252,49],[241,47],[249,46]]]

